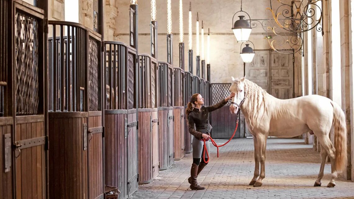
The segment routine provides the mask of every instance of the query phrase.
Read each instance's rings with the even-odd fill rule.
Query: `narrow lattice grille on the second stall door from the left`
[[[98,110],[98,45],[89,39],[89,101],[90,110]]]

